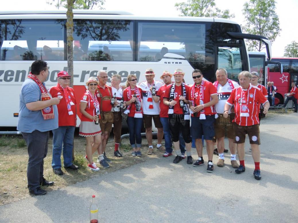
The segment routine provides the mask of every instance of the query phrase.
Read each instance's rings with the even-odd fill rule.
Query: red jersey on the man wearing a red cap
[[[51,87],[49,89],[49,92],[53,98],[61,98],[60,103],[57,105],[59,126],[76,126],[76,118],[77,118],[76,103],[77,102],[75,100],[74,89],[72,89],[71,87],[67,88],[68,95],[70,96],[70,99],[74,103],[74,105],[71,106],[72,112],[74,113],[72,115],[68,114],[66,100],[64,98],[65,95],[60,84],[57,84],[57,86]]]

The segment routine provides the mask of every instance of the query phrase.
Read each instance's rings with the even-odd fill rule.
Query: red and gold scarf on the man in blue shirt
[[[41,91],[41,100],[42,101],[46,101],[46,100],[51,99],[51,96],[50,96],[49,92],[46,90],[44,85],[40,82],[40,80],[38,80],[38,78],[35,75],[33,75],[30,72],[28,74],[28,78],[32,79],[33,81],[35,81],[36,84],[38,84],[39,89]],[[41,109],[41,113],[42,113],[42,116],[44,117],[44,120],[53,119],[55,117],[52,105],[49,106],[49,107],[46,107],[44,109]]]

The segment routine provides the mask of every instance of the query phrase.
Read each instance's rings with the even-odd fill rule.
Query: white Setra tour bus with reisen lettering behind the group
[[[192,84],[192,71],[200,69],[215,81],[217,68],[225,68],[237,79],[249,70],[245,38],[270,42],[261,36],[243,34],[239,24],[220,18],[149,18],[127,12],[74,10],[74,89],[77,101],[85,82],[99,70],[118,73],[125,84],[128,74],[144,81],[152,68],[155,79],[163,70],[185,72]],[[57,73],[67,70],[66,10],[0,12],[0,126],[16,126],[21,85],[35,60],[49,65],[46,86],[57,84]],[[79,109],[78,109],[79,110]],[[77,123],[79,124],[79,122]]]

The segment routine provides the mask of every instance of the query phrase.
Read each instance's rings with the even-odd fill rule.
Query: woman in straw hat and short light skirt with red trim
[[[101,129],[98,124],[99,120],[99,103],[95,95],[98,81],[95,77],[90,77],[86,82],[88,90],[82,96],[80,101],[81,124],[80,136],[86,137],[86,156],[88,167],[91,170],[99,171],[100,169],[92,160],[93,153],[97,150],[101,143]]]

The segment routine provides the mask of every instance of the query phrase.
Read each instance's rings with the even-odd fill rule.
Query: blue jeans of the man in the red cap
[[[60,126],[53,132],[53,169],[61,168],[61,151],[63,143],[64,167],[72,165],[72,149],[74,147],[75,126]]]

